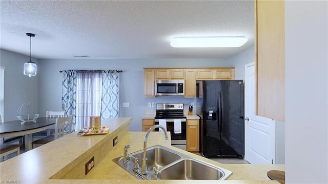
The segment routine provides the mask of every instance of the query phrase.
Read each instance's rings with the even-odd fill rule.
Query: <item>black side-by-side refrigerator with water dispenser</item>
[[[202,86],[201,154],[204,157],[244,155],[243,80],[206,80]]]

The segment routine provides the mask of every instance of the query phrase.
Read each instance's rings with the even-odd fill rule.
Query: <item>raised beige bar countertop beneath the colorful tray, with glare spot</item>
[[[104,135],[77,136],[77,132],[49,142],[0,163],[1,180],[19,180],[19,183],[49,183],[50,177],[61,177],[74,170],[80,162],[90,159],[90,153],[122,130],[129,131],[132,118],[109,118],[101,120],[101,126],[109,126]],[[122,136],[123,137],[123,136]],[[101,153],[100,153],[101,154]],[[105,153],[106,155],[108,154]],[[104,157],[104,156],[103,156]],[[95,156],[95,161],[96,160]],[[84,162],[85,164],[85,162]],[[83,174],[83,172],[82,172]],[[83,175],[84,176],[84,175]]]

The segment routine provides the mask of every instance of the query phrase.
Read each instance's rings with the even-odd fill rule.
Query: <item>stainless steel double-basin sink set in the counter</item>
[[[188,155],[156,145],[147,149],[147,162],[149,173],[141,174],[141,169],[134,169],[135,158],[141,163],[144,151],[140,150],[129,154],[128,162],[123,162],[123,156],[113,161],[138,179],[151,179],[153,168],[160,173],[158,179],[201,179],[224,180],[232,172],[210,163],[196,160]]]

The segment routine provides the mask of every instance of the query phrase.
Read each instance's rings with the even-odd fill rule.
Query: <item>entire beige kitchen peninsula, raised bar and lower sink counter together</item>
[[[170,144],[162,132],[151,132],[147,145],[162,145],[201,161],[228,169],[228,180],[138,180],[112,161],[122,156],[129,144],[129,152],[141,150],[146,132],[129,132],[132,118],[102,120],[109,126],[105,135],[76,136],[77,132],[50,142],[0,163],[2,183],[278,183],[267,177],[269,170],[283,170],[284,165],[222,164],[189,153]],[[117,144],[113,146],[114,142]],[[94,158],[94,167],[86,175],[86,163]]]

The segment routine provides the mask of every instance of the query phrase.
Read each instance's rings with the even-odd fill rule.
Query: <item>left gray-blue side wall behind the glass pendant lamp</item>
[[[29,56],[0,50],[0,65],[5,67],[4,121],[17,120],[17,109],[26,101],[30,106],[24,106],[22,114],[38,113],[39,76],[29,78],[23,74],[23,65],[29,60]],[[39,65],[38,59],[32,61]]]

